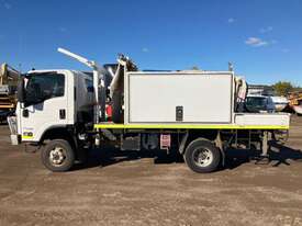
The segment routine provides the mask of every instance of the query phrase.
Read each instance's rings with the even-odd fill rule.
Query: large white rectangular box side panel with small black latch
[[[128,72],[125,79],[125,124],[232,123],[233,72]]]

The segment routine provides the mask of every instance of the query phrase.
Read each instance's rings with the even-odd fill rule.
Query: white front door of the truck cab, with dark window
[[[67,124],[67,90],[64,72],[33,72],[25,77],[25,102],[20,109],[22,140],[38,142],[48,128]]]

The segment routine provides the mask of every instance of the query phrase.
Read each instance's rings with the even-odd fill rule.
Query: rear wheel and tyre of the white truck
[[[184,151],[184,161],[194,172],[212,172],[217,169],[220,160],[220,149],[204,138],[194,139]]]

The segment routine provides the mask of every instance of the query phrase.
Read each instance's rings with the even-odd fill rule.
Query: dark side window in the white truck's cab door
[[[25,86],[27,105],[64,95],[64,75],[56,72],[29,74],[25,78],[27,79]]]

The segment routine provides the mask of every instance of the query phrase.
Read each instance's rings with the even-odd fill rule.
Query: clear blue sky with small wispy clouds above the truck
[[[302,86],[300,0],[0,0],[0,61],[22,71],[86,69],[125,53],[139,69],[226,70],[249,83]]]

